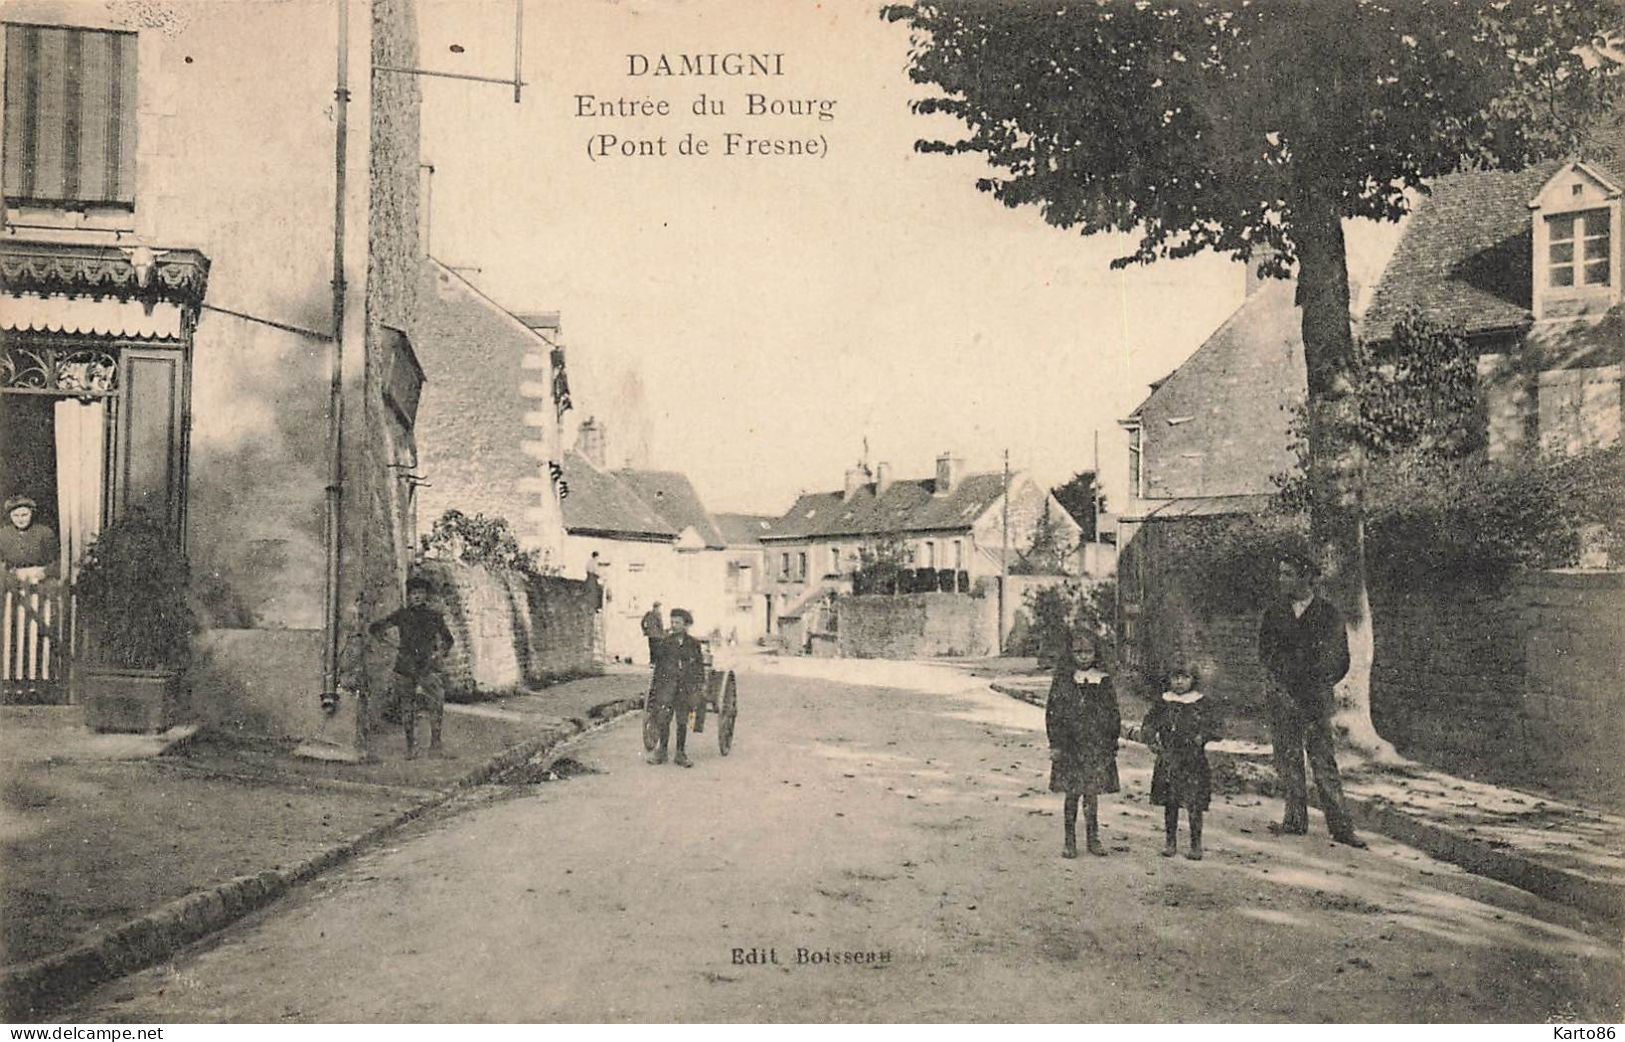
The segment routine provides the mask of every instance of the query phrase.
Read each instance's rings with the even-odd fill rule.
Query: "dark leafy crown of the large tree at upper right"
[[[1311,197],[1394,219],[1406,192],[1462,166],[1563,153],[1618,96],[1591,41],[1612,0],[921,0],[920,114],[998,172],[977,187],[1084,234],[1138,236],[1118,263],[1204,249],[1294,257]]]

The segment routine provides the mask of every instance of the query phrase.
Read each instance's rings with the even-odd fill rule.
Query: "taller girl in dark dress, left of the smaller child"
[[[1098,795],[1118,790],[1121,720],[1112,678],[1095,666],[1095,649],[1087,634],[1076,634],[1055,665],[1043,723],[1050,735],[1050,792],[1066,793],[1066,845],[1061,857],[1077,857],[1079,803],[1084,805],[1089,853],[1105,857]]]

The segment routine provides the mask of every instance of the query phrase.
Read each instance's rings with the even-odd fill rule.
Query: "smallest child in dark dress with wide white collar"
[[[1157,756],[1157,766],[1150,774],[1150,801],[1164,808],[1162,827],[1167,842],[1162,857],[1173,857],[1178,852],[1175,840],[1183,806],[1191,826],[1191,847],[1185,857],[1199,862],[1202,811],[1207,810],[1212,790],[1207,753],[1202,746],[1217,736],[1217,722],[1212,704],[1196,689],[1193,670],[1175,666],[1168,673],[1168,689],[1152,702],[1141,733]]]

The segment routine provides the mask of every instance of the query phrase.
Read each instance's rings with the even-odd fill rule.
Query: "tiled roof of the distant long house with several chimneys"
[[[1014,486],[1014,478],[1012,478]],[[861,486],[850,501],[842,493],[809,493],[774,523],[765,540],[809,536],[876,536],[904,532],[970,528],[999,501],[1003,475],[965,475],[952,491],[934,496],[934,478],[894,481],[884,496]]]

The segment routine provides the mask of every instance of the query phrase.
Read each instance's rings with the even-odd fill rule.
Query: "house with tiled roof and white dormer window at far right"
[[[1409,312],[1467,336],[1490,458],[1618,444],[1622,187],[1581,161],[1443,177],[1376,284],[1367,340]]]

